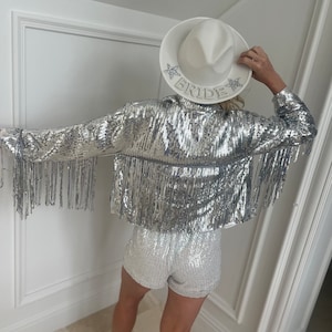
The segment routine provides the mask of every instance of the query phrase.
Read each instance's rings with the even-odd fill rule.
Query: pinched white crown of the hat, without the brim
[[[194,27],[178,51],[183,75],[193,83],[212,86],[227,79],[234,62],[234,38],[219,20],[205,20]]]

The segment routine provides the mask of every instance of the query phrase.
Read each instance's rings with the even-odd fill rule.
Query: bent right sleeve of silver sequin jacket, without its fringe
[[[301,98],[286,87],[276,94],[272,101],[276,116],[269,118],[253,116],[247,121],[247,132],[251,132],[249,149],[253,154],[263,154],[312,143],[317,127],[313,116]]]

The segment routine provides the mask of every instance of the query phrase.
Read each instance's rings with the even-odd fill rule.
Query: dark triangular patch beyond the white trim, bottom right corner
[[[332,331],[332,264],[328,270],[307,332]]]

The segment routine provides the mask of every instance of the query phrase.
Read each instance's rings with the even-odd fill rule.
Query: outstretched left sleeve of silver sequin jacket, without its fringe
[[[30,162],[66,162],[111,155],[123,148],[124,108],[84,124],[52,129],[0,129],[0,143]]]

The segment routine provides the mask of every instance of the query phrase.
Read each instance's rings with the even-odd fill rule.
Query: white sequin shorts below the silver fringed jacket
[[[173,234],[135,227],[124,268],[146,288],[159,289],[168,283],[180,295],[204,298],[220,281],[221,230]]]

